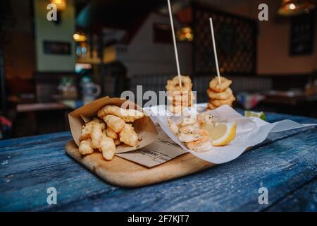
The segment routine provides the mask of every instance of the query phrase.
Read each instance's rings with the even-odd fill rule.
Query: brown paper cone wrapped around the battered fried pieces
[[[82,126],[94,117],[97,117],[97,112],[99,109],[101,109],[101,107],[106,105],[116,105],[121,107],[123,103],[125,103],[125,105],[128,104],[130,109],[137,109],[140,112],[143,112],[142,108],[136,105],[134,102],[118,97],[103,97],[78,109],[75,109],[73,112],[70,112],[70,114],[68,114],[70,131],[77,146],[80,143]],[[130,147],[129,145],[125,144],[118,145],[116,147],[116,153],[126,153],[131,150],[137,150],[157,140],[158,132],[156,127],[150,117],[145,114],[145,112],[144,117],[142,119],[135,120],[132,123],[132,126],[135,128],[137,136],[139,136],[139,144],[135,147]]]

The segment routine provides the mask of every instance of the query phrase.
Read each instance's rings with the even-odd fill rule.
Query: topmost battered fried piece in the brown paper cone
[[[98,111],[98,117],[100,118],[104,118],[108,114],[120,117],[120,119],[123,119],[126,122],[133,122],[136,119],[144,117],[143,112],[139,112],[135,109],[123,109],[116,105],[106,105]]]

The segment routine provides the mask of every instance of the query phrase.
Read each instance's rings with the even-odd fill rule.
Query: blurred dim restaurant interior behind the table
[[[56,4],[49,21],[48,4]],[[235,108],[317,117],[316,1],[171,0],[180,71],[197,102],[216,76]],[[260,4],[268,20],[259,20]],[[68,113],[177,74],[166,0],[0,1],[0,139],[66,131]]]

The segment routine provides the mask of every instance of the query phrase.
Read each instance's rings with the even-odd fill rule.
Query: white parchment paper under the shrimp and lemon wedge
[[[197,111],[202,112],[206,108],[206,104],[197,105]],[[222,164],[229,162],[239,157],[247,148],[263,142],[268,133],[276,133],[287,131],[290,129],[299,129],[305,126],[316,126],[316,124],[299,124],[292,120],[282,120],[275,123],[268,123],[259,118],[244,117],[232,107],[223,105],[217,109],[211,110],[213,116],[219,117],[221,121],[236,121],[237,133],[235,139],[223,147],[213,147],[205,153],[197,153],[189,150],[185,144],[180,142],[168,126],[167,117],[172,114],[168,111],[165,105],[154,106],[145,109],[151,114],[151,119],[157,122],[161,129],[175,142],[182,147],[183,150],[192,153],[196,157],[212,162],[214,164]],[[173,119],[173,118],[172,118]],[[175,120],[175,118],[173,119]]]

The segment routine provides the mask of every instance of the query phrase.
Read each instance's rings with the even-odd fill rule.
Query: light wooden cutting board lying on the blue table
[[[190,153],[175,157],[159,166],[147,168],[118,156],[113,157],[111,161],[106,161],[101,153],[80,155],[74,141],[69,141],[65,149],[68,155],[104,181],[123,187],[156,184],[215,166],[210,162],[194,157]]]

